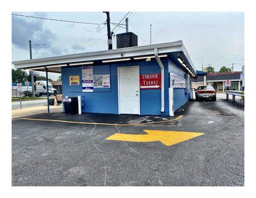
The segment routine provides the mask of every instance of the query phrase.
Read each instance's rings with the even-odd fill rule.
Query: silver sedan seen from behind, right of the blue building
[[[212,99],[216,101],[216,91],[210,85],[199,86],[196,91],[196,100],[198,101],[199,99]]]

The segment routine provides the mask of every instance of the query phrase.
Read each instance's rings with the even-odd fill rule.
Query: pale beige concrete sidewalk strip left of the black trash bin
[[[50,112],[51,113],[62,112],[62,105],[50,106]],[[24,116],[36,115],[40,113],[47,113],[47,105],[33,106],[33,107],[27,107],[22,109],[12,109],[11,117],[13,119],[13,118],[19,118]]]

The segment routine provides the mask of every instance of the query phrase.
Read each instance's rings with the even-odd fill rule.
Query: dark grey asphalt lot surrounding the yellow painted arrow
[[[243,106],[190,101],[176,115],[183,117],[44,113],[28,118],[70,122],[13,119],[12,186],[244,186]],[[120,125],[93,124],[102,121]],[[144,130],[204,134],[171,146],[106,140]]]

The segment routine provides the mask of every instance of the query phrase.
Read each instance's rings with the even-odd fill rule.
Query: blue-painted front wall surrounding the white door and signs
[[[168,101],[168,88],[169,88],[169,75],[168,75],[168,59],[161,59],[165,68],[164,80],[164,100],[165,111],[161,113],[161,90],[140,90],[140,107],[141,115],[169,115],[169,101]],[[160,67],[155,60],[146,62],[133,62],[123,64],[107,64],[93,67],[93,74],[108,74],[110,71],[110,88],[105,90],[94,89],[93,93],[82,92],[82,68],[81,67],[66,67],[62,68],[62,90],[63,98],[65,96],[77,97],[83,96],[85,106],[82,112],[94,113],[114,113],[118,114],[118,88],[117,88],[117,67],[123,66],[137,66],[140,67],[141,74],[160,73]],[[79,75],[80,85],[70,86],[69,76]],[[102,92],[104,91],[104,92]]]

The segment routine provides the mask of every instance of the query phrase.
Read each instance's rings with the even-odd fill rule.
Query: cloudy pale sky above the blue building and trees
[[[110,22],[119,23],[128,12],[110,12]],[[13,12],[60,20],[97,23],[79,24],[12,15],[12,61],[29,59],[29,40],[46,44],[32,48],[33,59],[107,49],[107,28],[102,12]],[[129,16],[130,15],[130,16]],[[194,66],[210,65],[242,71],[244,64],[243,12],[130,12],[129,32],[138,35],[138,46],[182,40]],[[114,29],[111,24],[111,30]],[[115,28],[115,34],[125,32]],[[117,31],[116,31],[117,30]],[[113,39],[113,49],[116,41]],[[12,68],[13,65],[12,65]],[[41,72],[45,76],[45,72]],[[59,74],[49,73],[57,80]]]

